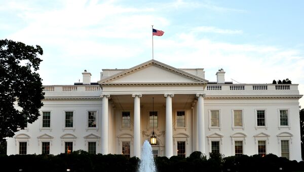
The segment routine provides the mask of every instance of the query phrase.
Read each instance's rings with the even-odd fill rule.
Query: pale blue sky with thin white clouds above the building
[[[44,85],[100,80],[104,68],[154,59],[204,68],[205,79],[272,83],[288,78],[304,94],[304,1],[0,0],[0,39],[40,45]],[[304,108],[304,98],[300,99]]]

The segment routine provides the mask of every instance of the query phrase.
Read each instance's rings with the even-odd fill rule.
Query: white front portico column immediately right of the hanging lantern
[[[173,131],[172,131],[172,97],[174,94],[164,94],[166,97],[166,157],[173,156]]]

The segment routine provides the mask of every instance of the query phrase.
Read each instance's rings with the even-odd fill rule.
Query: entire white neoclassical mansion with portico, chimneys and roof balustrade
[[[297,84],[233,84],[225,72],[149,60],[104,69],[100,81],[46,85],[39,120],[8,139],[11,154],[74,150],[140,157],[153,131],[155,156],[276,154],[301,160]]]

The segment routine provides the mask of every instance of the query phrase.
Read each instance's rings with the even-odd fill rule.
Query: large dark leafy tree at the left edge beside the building
[[[0,141],[40,116],[44,93],[37,73],[39,54],[43,54],[39,45],[0,40]]]

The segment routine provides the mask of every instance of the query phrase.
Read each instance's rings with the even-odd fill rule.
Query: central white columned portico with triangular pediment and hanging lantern
[[[154,149],[158,156],[176,155],[180,145],[185,154],[195,151],[195,143],[189,137],[196,133],[199,137],[194,142],[198,142],[198,150],[205,153],[203,92],[207,80],[150,60],[98,83],[102,87],[102,154],[120,153],[124,151],[122,145],[129,143],[130,156],[140,157],[142,143],[152,133],[151,123],[156,125],[158,145]],[[152,121],[153,97],[157,115]],[[111,112],[108,109],[112,109]],[[129,117],[123,116],[124,112],[130,113]],[[109,118],[115,120],[116,125],[108,126]],[[120,124],[124,119],[130,120],[130,126]],[[109,146],[111,143],[118,145]]]

